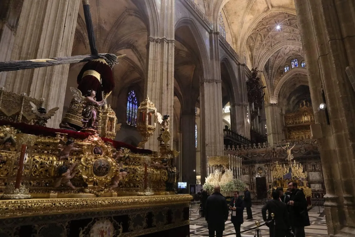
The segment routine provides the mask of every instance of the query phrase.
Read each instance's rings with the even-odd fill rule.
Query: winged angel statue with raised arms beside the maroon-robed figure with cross
[[[81,113],[83,116],[81,119],[81,122],[83,122],[83,129],[91,128],[96,130],[97,108],[103,106],[105,100],[96,101],[96,91],[94,90],[88,90],[84,96],[81,94],[81,91],[75,87],[70,87],[70,91],[73,92],[74,99],[84,105]]]

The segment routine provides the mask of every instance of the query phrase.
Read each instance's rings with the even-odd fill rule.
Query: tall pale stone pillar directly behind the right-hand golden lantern
[[[158,10],[161,12],[159,15],[161,29],[158,31],[159,36],[148,37],[148,71],[144,93],[155,104],[157,112],[170,115],[170,133],[173,133],[175,0],[166,0],[162,4],[157,3],[157,6],[160,7]],[[158,136],[159,124],[144,148],[158,151]],[[170,145],[173,145],[173,139],[170,140]]]

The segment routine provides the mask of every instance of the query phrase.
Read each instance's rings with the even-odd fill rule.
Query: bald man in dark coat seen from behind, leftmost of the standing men
[[[228,206],[225,197],[220,193],[219,185],[214,187],[214,193],[206,201],[206,221],[208,226],[208,235],[222,237],[224,231],[224,222],[228,220]]]

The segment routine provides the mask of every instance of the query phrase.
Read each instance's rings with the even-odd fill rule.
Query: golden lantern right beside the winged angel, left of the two
[[[115,111],[111,109],[110,105],[104,108],[101,121],[101,136],[109,139],[115,139],[117,132],[117,117]]]

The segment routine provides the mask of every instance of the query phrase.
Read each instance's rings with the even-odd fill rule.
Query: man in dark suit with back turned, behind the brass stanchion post
[[[271,195],[272,199],[266,201],[266,204],[261,209],[261,214],[264,221],[271,221],[271,213],[274,214],[274,221],[269,226],[270,237],[285,237],[290,227],[287,205],[280,201],[279,191],[273,190]],[[269,214],[267,219],[266,210]]]

